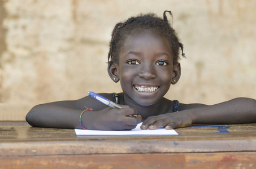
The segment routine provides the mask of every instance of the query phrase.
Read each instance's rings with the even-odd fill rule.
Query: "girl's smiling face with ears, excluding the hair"
[[[149,106],[162,99],[180,75],[180,65],[175,65],[179,68],[177,75],[172,58],[169,43],[159,34],[144,30],[130,35],[120,51],[118,65],[112,65],[113,74],[120,80],[125,104]]]

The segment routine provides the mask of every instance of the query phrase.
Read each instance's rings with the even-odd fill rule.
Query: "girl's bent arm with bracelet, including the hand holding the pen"
[[[93,111],[84,112],[81,123],[90,130],[131,130],[141,122],[140,115],[137,118],[127,117],[137,114],[136,109],[124,105],[123,109],[113,109],[89,96],[74,101],[36,105],[28,112],[26,120],[35,127],[82,128],[79,118],[85,106]]]

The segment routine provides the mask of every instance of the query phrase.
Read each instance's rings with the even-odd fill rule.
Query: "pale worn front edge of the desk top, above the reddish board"
[[[1,143],[0,157],[57,154],[256,152],[256,140],[76,140]]]

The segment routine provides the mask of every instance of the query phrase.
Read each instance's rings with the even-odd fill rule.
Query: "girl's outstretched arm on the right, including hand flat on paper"
[[[154,130],[160,126],[166,129],[188,127],[192,124],[242,124],[256,123],[256,100],[236,98],[215,105],[182,105],[184,110],[149,117],[141,128]],[[196,107],[196,108],[193,108]],[[192,109],[190,109],[192,108]]]

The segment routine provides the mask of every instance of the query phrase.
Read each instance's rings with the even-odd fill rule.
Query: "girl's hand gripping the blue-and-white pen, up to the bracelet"
[[[99,111],[87,111],[81,119],[83,126],[88,130],[132,130],[141,122],[141,115],[135,108],[120,105],[122,109],[105,108]]]

